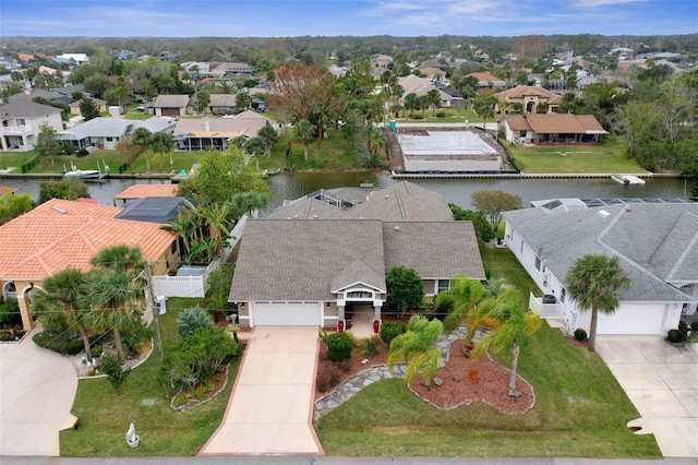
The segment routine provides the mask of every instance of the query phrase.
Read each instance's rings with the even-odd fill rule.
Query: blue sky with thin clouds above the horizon
[[[696,0],[0,0],[2,36],[698,33]]]

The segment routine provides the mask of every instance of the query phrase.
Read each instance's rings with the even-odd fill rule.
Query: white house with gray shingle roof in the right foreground
[[[563,203],[571,208],[559,207]],[[698,203],[661,199],[606,202],[551,200],[505,212],[505,243],[528,274],[556,303],[530,307],[562,319],[568,334],[589,331],[591,312],[581,312],[567,294],[567,272],[585,254],[617,257],[630,278],[618,291],[613,314],[599,313],[598,334],[666,335],[682,314],[698,306]]]

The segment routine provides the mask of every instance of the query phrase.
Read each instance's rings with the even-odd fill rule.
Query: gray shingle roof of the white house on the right
[[[607,213],[604,214],[603,212]],[[505,212],[504,219],[563,283],[577,258],[617,255],[630,277],[626,301],[687,301],[669,283],[698,282],[698,204],[617,204]]]

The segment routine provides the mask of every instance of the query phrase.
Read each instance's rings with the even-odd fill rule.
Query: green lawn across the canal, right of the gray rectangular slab
[[[528,174],[646,172],[625,156],[626,143],[616,138],[606,138],[597,146],[528,147],[506,141],[504,144],[518,168]]]

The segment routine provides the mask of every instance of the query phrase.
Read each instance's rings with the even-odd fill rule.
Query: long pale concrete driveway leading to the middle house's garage
[[[317,327],[257,326],[202,455],[321,454],[312,426]]]

